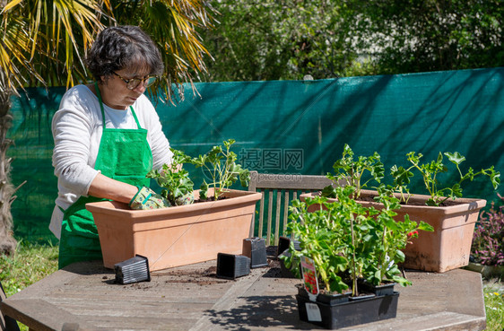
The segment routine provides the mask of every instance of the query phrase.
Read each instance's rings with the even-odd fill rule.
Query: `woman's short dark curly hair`
[[[98,82],[101,76],[125,68],[135,72],[147,67],[151,75],[161,75],[164,70],[160,50],[152,39],[131,25],[102,30],[91,46],[86,65]]]

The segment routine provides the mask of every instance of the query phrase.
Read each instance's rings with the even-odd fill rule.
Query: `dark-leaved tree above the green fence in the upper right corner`
[[[356,2],[380,74],[504,65],[500,0]],[[368,43],[368,47],[371,45]]]

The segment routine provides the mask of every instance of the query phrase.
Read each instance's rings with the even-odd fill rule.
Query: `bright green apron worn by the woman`
[[[147,142],[147,130],[138,123],[133,107],[130,108],[138,129],[106,128],[105,110],[97,83],[95,88],[103,118],[103,134],[94,169],[111,179],[148,187],[150,179],[145,175],[152,170],[152,152]],[[85,205],[106,200],[108,199],[81,196],[64,211],[59,240],[60,269],[74,262],[102,258],[98,231],[92,214]]]

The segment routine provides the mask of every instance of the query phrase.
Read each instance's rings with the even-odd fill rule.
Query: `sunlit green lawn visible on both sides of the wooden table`
[[[58,248],[21,241],[12,257],[0,257],[0,281],[7,297],[57,270]],[[487,331],[504,330],[504,280],[485,280]],[[20,324],[22,331],[28,327]]]

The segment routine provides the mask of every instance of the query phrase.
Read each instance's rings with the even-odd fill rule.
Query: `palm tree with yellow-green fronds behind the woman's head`
[[[28,86],[87,82],[91,75],[83,57],[92,41],[104,27],[121,24],[142,27],[158,44],[166,72],[150,93],[173,102],[181,83],[192,84],[194,74],[206,71],[208,52],[196,27],[212,26],[213,11],[203,0],[0,0],[0,5],[0,249],[12,252],[16,188],[5,157],[13,144],[6,138],[11,96]]]

